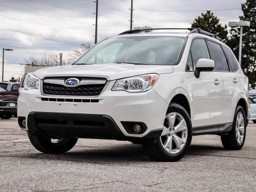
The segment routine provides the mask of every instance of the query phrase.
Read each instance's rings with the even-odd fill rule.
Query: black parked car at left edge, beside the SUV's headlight
[[[12,118],[13,115],[17,115],[18,97],[19,97],[19,92],[14,92],[14,91],[8,92],[3,88],[0,88],[0,118],[1,119],[10,119]]]

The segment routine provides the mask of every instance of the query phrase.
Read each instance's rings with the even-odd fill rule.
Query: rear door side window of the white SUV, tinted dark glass
[[[212,60],[214,60],[214,70],[229,71],[227,58],[219,44],[208,41]]]

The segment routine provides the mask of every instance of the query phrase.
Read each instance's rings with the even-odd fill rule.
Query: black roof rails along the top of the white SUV
[[[221,40],[220,37],[218,37],[216,34],[212,34],[212,33],[209,33],[207,31],[204,31],[200,28],[153,28],[153,29],[133,29],[133,30],[129,30],[129,31],[124,31],[122,33],[120,33],[119,35],[125,35],[125,34],[132,34],[132,33],[140,33],[142,31],[145,31],[145,32],[150,32],[150,31],[153,31],[153,30],[188,30],[190,31],[190,34],[191,33],[201,33],[201,34],[204,34],[204,35],[208,35],[208,36],[211,36],[213,38],[216,38],[217,40]]]

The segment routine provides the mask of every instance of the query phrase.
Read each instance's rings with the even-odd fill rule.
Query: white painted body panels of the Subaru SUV
[[[163,33],[154,35],[162,36]],[[173,33],[164,35],[177,36],[177,34]],[[188,36],[188,34],[180,36]],[[41,100],[42,97],[46,96],[41,93],[40,86],[42,82],[40,82],[38,89],[22,89],[20,91],[18,116],[27,118],[31,111],[104,114],[111,116],[115,120],[125,136],[140,138],[154,129],[163,127],[168,105],[175,95],[182,94],[188,99],[191,123],[194,128],[232,123],[239,99],[243,99],[246,104],[248,103],[248,84],[244,79],[243,71],[239,68],[236,72],[201,72],[198,79],[195,77],[194,72],[186,72],[185,63],[187,63],[191,42],[196,37],[208,38],[225,45],[210,36],[191,34],[188,36],[179,65],[68,65],[37,70],[33,74],[39,79],[60,76],[106,77],[109,83],[106,90],[97,97],[100,100],[99,103],[74,105],[73,103],[63,102],[60,105],[60,102],[44,102]],[[147,92],[112,91],[116,79],[150,73],[159,74],[159,79],[157,79],[153,88]],[[237,79],[236,83],[233,81],[234,77]],[[220,83],[215,84],[214,81],[216,79]],[[51,96],[51,98],[77,99],[77,97],[70,96]],[[95,97],[79,98],[95,99]],[[246,114],[248,117],[248,107],[246,108]],[[145,122],[148,129],[143,134],[128,134],[120,123],[121,121]],[[28,126],[25,130],[28,131]]]

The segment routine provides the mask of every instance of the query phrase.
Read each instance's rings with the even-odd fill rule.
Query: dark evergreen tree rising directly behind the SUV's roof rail
[[[227,41],[227,25],[224,27],[221,26],[220,19],[215,17],[211,11],[207,11],[206,13],[202,13],[201,16],[198,16],[191,27],[200,28],[204,31],[216,34],[223,40],[223,42]]]

